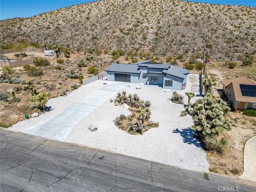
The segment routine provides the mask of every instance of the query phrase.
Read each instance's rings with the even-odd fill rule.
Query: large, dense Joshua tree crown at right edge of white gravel
[[[205,135],[219,135],[223,130],[231,129],[230,119],[225,117],[229,110],[222,99],[208,93],[206,97],[198,99],[181,111],[180,116],[191,115],[194,121],[191,128],[205,137]]]

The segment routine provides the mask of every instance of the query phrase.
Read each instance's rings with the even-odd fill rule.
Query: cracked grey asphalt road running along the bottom
[[[183,170],[35,135],[0,131],[1,192],[256,190],[255,183]],[[131,147],[144,150],[136,143]]]

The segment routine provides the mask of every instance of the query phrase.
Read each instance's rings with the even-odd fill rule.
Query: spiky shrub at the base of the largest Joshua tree
[[[227,145],[226,138],[217,139],[212,135],[206,135],[202,139],[202,142],[203,142],[204,148],[207,151],[211,151],[211,153],[214,153],[217,155],[223,155],[223,151]]]

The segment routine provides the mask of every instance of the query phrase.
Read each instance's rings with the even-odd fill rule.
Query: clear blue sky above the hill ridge
[[[0,20],[16,17],[33,17],[34,15],[60,9],[70,5],[76,5],[93,0],[0,0]],[[256,0],[188,0],[199,3],[227,4],[227,5],[245,5],[256,7]]]

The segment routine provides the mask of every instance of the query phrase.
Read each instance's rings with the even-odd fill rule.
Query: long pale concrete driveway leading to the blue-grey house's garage
[[[111,82],[98,91],[75,102],[59,114],[47,119],[47,121],[29,127],[22,132],[40,137],[65,141],[74,127],[86,116],[111,98],[118,91],[124,89],[126,83]],[[107,111],[106,111],[107,113]]]

